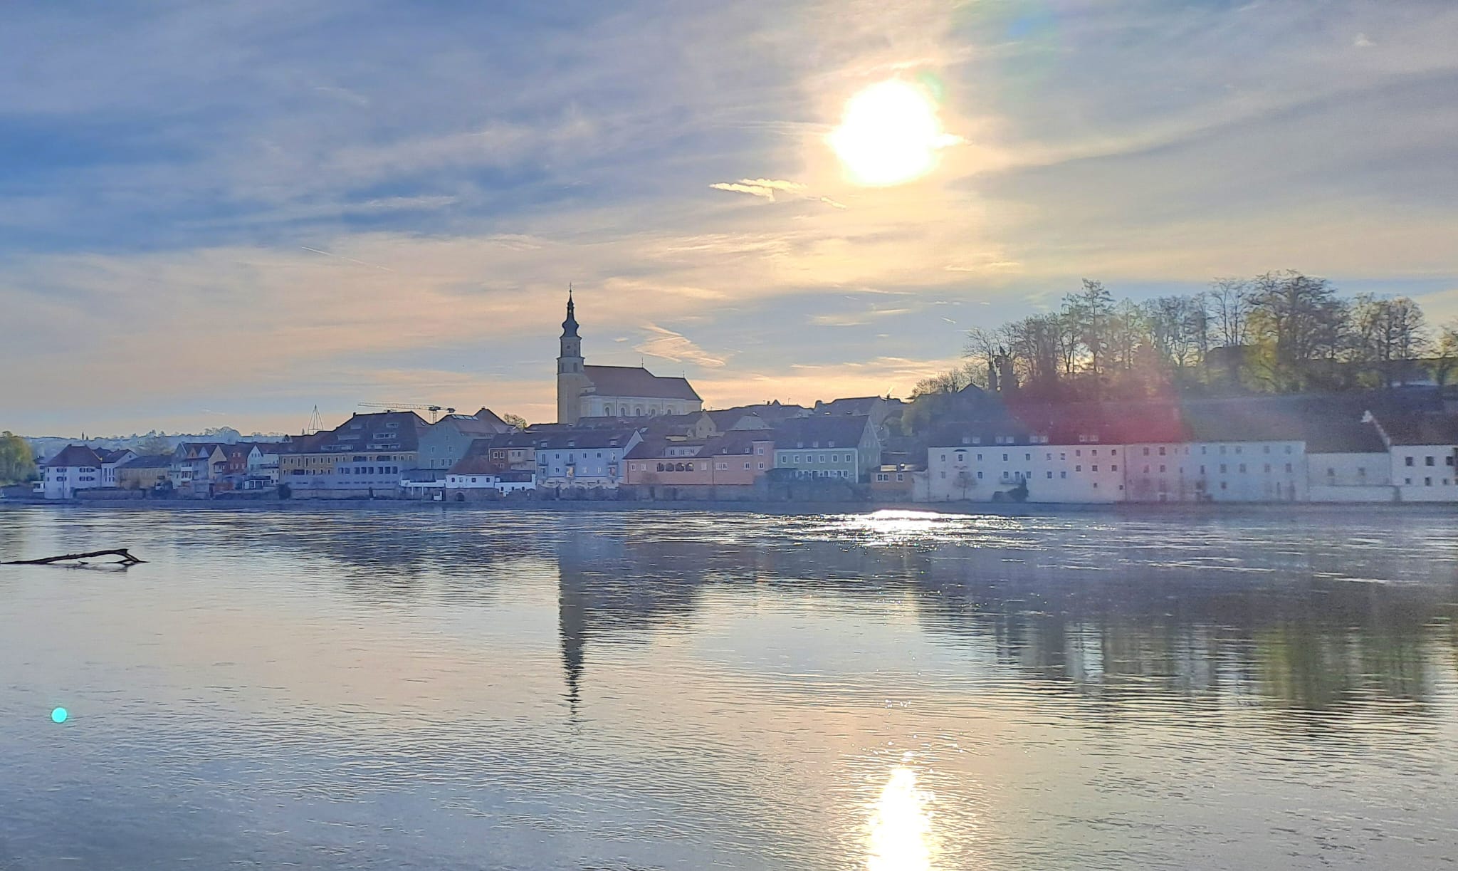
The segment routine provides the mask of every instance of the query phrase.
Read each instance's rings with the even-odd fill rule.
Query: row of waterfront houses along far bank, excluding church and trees
[[[166,457],[71,445],[36,489],[464,500],[809,480],[888,502],[1458,502],[1458,416],[1387,394],[1038,406],[978,391],[923,439],[892,435],[898,411],[863,397],[521,430],[488,409],[434,423],[383,411]]]

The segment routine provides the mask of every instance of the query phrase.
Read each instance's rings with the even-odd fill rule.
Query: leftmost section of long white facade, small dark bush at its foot
[[[1028,502],[1121,502],[1123,470],[1123,445],[1038,442],[929,448],[926,499],[1007,500],[1010,492],[1025,483]]]

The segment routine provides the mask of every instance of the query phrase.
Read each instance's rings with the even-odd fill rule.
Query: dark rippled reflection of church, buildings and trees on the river
[[[1263,551],[1196,531],[1185,543],[1196,565],[1128,535],[1070,535],[1064,549],[1032,537],[1040,547],[1031,549],[1015,521],[991,519],[999,534],[980,544],[927,535],[935,522],[911,515],[821,522],[768,546],[714,535],[561,538],[569,700],[580,700],[589,642],[682,627],[704,588],[732,594],[746,584],[787,595],[910,595],[933,638],[990,649],[1003,674],[1072,689],[1111,716],[1124,700],[1165,697],[1255,699],[1319,715],[1302,728],[1371,702],[1420,715],[1435,668],[1458,658],[1445,619],[1458,601],[1451,560],[1404,557],[1398,546],[1334,556],[1330,543],[1299,535]]]

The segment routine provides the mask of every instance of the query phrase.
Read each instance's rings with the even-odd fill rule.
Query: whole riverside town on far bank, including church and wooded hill
[[[1302,344],[1301,331],[1319,341]],[[10,500],[954,503],[1458,502],[1452,328],[1295,273],[972,330],[910,400],[706,407],[685,378],[589,365],[569,293],[557,420],[483,404],[273,438],[54,445]],[[1295,347],[1305,349],[1302,356]],[[1427,356],[1414,353],[1429,349]],[[426,410],[426,409],[420,409]],[[445,411],[437,417],[439,411]],[[15,436],[10,436],[15,439]]]

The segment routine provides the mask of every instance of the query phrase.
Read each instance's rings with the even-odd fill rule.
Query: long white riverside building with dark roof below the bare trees
[[[1458,414],[1225,400],[946,425],[929,502],[1458,502]]]

